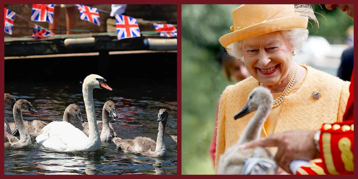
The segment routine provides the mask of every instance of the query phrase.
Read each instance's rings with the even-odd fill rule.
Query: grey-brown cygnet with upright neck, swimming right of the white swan
[[[166,121],[168,120],[168,111],[160,109],[158,113],[158,136],[157,141],[149,137],[137,136],[134,139],[121,139],[114,137],[113,142],[116,144],[118,150],[123,152],[138,153],[144,156],[163,156],[166,155],[166,146],[164,142],[164,131]]]

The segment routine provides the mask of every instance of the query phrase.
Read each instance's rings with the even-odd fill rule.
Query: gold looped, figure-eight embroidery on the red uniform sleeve
[[[340,157],[344,163],[344,169],[347,171],[353,171],[354,169],[353,154],[350,151],[351,146],[352,142],[347,137],[342,137],[338,141],[338,148],[341,152]]]

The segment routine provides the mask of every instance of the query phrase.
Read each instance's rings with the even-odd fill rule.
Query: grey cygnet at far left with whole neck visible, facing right
[[[14,120],[16,123],[16,126],[19,129],[20,133],[20,140],[14,137],[13,135],[9,134],[8,132],[5,136],[10,136],[8,138],[9,142],[4,143],[5,147],[24,147],[31,144],[31,138],[30,135],[27,133],[25,126],[24,126],[24,120],[22,117],[23,111],[29,111],[38,113],[35,108],[31,105],[31,103],[27,100],[20,99],[15,102],[13,107],[13,114],[14,114]]]

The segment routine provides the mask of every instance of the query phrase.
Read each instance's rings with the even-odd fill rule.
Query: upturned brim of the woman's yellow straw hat
[[[261,35],[269,32],[275,32],[278,30],[287,30],[293,28],[306,29],[307,25],[308,18],[303,16],[273,19],[226,34],[219,38],[219,42],[223,47],[227,48],[227,45],[231,43],[249,37],[253,37],[255,35]]]

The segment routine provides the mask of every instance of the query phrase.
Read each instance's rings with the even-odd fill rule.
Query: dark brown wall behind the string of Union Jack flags
[[[87,6],[95,7],[97,9],[105,10],[110,12],[110,4],[84,4]],[[46,22],[35,22],[30,21],[32,13],[32,4],[5,4],[5,8],[8,8],[11,11],[14,11],[16,14],[22,16],[24,19],[21,19],[18,16],[14,18],[14,28],[13,35],[5,33],[5,36],[31,36],[33,32],[33,26],[38,24],[44,28],[48,28],[48,23]],[[88,30],[91,32],[106,32],[107,31],[107,19],[110,18],[109,13],[101,12],[100,20],[101,26],[97,26],[88,21],[81,20],[79,17],[79,11],[76,17],[73,17],[76,20],[75,30],[84,30],[82,32],[76,31],[76,33],[88,33]],[[147,21],[160,21],[161,23],[175,24],[177,23],[177,5],[160,5],[160,4],[129,4],[126,9],[126,14],[128,16],[134,17],[136,19],[143,19]],[[26,20],[25,20],[26,19]],[[29,22],[30,21],[30,22]],[[66,16],[65,8],[61,8],[60,19],[58,22],[58,29],[64,29],[57,32],[57,34],[66,34]],[[150,29],[153,30],[154,28]],[[148,30],[141,29],[140,30]],[[86,32],[87,31],[87,32]]]

